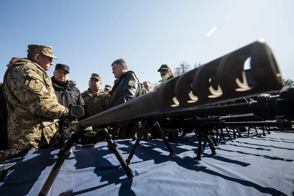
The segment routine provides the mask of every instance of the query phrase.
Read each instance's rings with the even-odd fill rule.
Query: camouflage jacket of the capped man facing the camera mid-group
[[[94,116],[107,109],[110,95],[99,89],[97,93],[92,93],[91,90],[87,90],[81,94],[86,103],[88,110],[88,116]],[[93,126],[93,131],[97,131],[99,126]]]

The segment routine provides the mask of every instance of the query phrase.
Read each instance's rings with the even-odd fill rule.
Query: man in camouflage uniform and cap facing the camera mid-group
[[[92,73],[89,81],[89,89],[81,94],[87,107],[88,117],[94,116],[107,109],[109,94],[100,89],[101,76],[97,73]],[[93,131],[97,131],[100,127],[94,126]]]

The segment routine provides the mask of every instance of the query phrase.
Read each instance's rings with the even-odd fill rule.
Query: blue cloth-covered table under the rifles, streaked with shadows
[[[246,134],[243,133],[245,136]],[[127,178],[106,142],[74,146],[49,196],[291,196],[294,195],[294,133],[251,133],[207,147],[196,161],[195,134],[174,138],[176,156],[162,140],[141,141]],[[135,143],[117,140],[124,159]],[[2,196],[36,196],[57,160],[59,148],[29,151],[0,181]]]

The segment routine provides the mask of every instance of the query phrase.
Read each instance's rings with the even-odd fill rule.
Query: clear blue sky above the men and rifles
[[[152,83],[161,64],[209,62],[264,38],[282,76],[294,79],[293,10],[293,0],[1,0],[0,76],[27,45],[43,44],[59,58],[47,73],[69,65],[81,92],[91,73],[113,85],[118,58]]]

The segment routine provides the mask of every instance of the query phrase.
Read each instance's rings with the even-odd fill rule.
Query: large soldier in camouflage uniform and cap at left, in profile
[[[8,110],[10,149],[51,147],[58,138],[58,118],[67,109],[57,101],[46,71],[53,65],[53,49],[28,45],[27,58],[8,67],[3,81]]]

